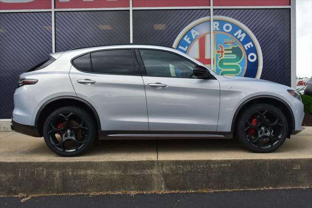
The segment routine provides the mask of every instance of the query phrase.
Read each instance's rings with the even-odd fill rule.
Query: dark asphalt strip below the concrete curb
[[[23,202],[21,202],[23,201]],[[311,208],[312,189],[0,197],[1,208]]]

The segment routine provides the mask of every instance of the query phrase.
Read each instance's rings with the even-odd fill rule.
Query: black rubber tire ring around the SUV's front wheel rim
[[[252,113],[259,111],[259,110],[269,110],[274,112],[275,114],[277,114],[281,120],[281,122],[284,125],[284,132],[283,132],[283,137],[279,140],[279,142],[274,145],[273,147],[267,148],[267,149],[260,149],[260,148],[256,148],[253,145],[251,145],[246,136],[245,136],[245,132],[244,132],[244,127],[245,127],[245,123],[247,121],[247,119],[251,116]],[[273,105],[269,105],[269,104],[255,104],[249,108],[247,108],[239,117],[239,121],[238,121],[238,125],[237,125],[237,129],[236,129],[236,135],[238,136],[238,140],[239,142],[248,150],[253,151],[253,152],[257,152],[257,153],[267,153],[267,152],[272,152],[275,151],[276,149],[278,149],[286,140],[287,137],[287,132],[288,132],[288,123],[287,123],[287,119],[286,116],[284,115],[284,113],[278,109],[277,107],[273,106]]]

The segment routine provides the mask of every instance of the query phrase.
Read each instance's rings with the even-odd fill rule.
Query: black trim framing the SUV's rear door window
[[[83,71],[83,70],[80,70],[75,64],[74,64],[74,60],[78,57],[82,57],[86,54],[89,54],[89,57],[90,57],[90,62],[91,62],[91,70],[92,70],[92,59],[91,59],[91,53],[95,53],[95,52],[101,52],[101,51],[117,51],[117,50],[130,50],[131,51],[131,54],[132,54],[132,61],[133,61],[133,66],[134,66],[134,70],[135,70],[135,74],[133,75],[129,75],[129,74],[118,74],[118,73],[98,73],[98,72],[87,72],[87,71]],[[98,75],[122,75],[122,76],[142,76],[141,75],[141,72],[139,70],[139,67],[138,67],[138,63],[137,63],[137,57],[135,55],[135,50],[134,48],[110,48],[110,49],[100,49],[100,50],[95,50],[95,51],[89,51],[89,52],[86,52],[86,53],[83,53],[83,54],[79,54],[78,56],[76,57],[73,57],[71,60],[70,60],[71,64],[75,67],[75,69],[77,69],[78,71],[80,72],[83,72],[83,73],[87,73],[87,74],[98,74]]]

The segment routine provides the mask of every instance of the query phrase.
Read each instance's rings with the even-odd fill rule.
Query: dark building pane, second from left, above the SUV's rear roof
[[[130,42],[129,11],[56,12],[56,50]]]

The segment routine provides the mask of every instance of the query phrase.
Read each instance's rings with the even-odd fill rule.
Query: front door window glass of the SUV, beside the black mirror
[[[155,50],[139,50],[148,76],[192,78],[195,64],[178,55]]]

